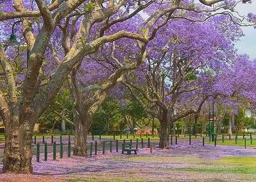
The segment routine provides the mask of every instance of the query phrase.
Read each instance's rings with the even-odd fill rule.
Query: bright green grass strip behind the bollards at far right
[[[207,144],[214,144],[214,142],[207,142]],[[222,141],[222,139],[217,140],[217,145],[237,145],[237,146],[244,146],[244,140],[243,139],[239,139],[237,140],[237,144],[235,144],[235,139],[232,140],[224,140],[224,142]],[[256,139],[253,138],[252,140],[252,144],[251,144],[251,140],[249,138],[246,139],[246,146],[250,146],[250,147],[256,147]]]

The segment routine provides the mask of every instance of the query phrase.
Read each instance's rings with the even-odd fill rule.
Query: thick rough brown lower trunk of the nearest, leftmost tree
[[[3,171],[30,174],[33,171],[31,142],[34,124],[13,115],[12,118],[12,122],[5,126]]]

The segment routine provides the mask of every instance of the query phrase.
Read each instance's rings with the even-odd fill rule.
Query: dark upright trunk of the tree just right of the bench
[[[162,113],[162,120],[160,122],[160,141],[159,141],[159,147],[161,149],[167,149],[169,148],[169,115],[168,112]]]

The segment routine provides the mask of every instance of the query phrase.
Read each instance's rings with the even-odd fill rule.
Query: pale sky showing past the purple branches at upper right
[[[252,4],[239,4],[237,10],[241,15],[252,12],[256,14],[256,0]],[[256,29],[253,27],[243,27],[244,37],[235,44],[238,53],[248,54],[250,59],[256,59]]]

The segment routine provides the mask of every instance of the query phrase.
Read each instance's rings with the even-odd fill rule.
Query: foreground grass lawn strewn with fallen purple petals
[[[109,159],[119,170],[69,176],[69,181],[254,181],[256,157],[205,160],[191,155],[129,156]],[[134,165],[136,164],[137,167]]]

